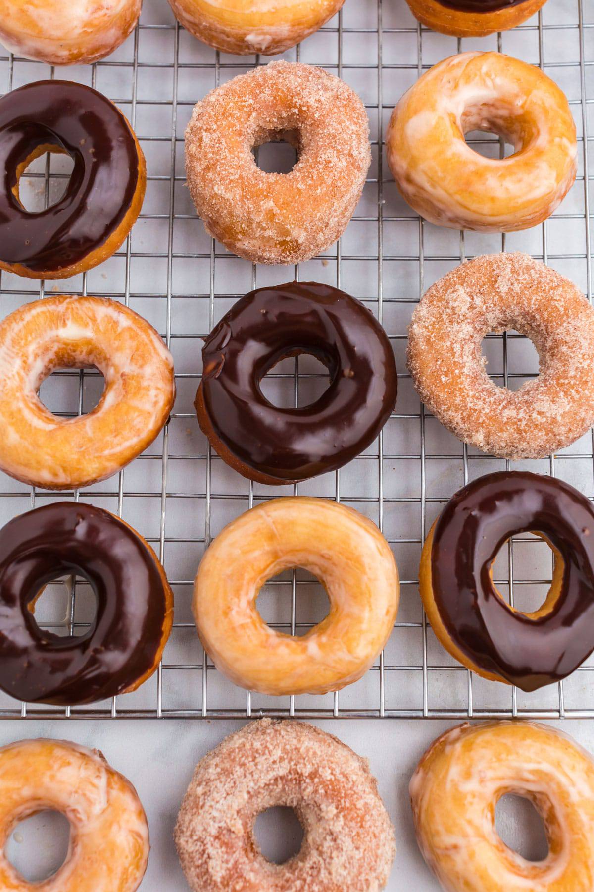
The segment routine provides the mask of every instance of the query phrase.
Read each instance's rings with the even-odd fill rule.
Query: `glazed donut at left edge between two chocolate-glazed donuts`
[[[99,368],[101,401],[61,418],[39,400],[56,368]],[[0,469],[66,490],[116,474],[153,442],[175,400],[171,354],[149,323],[117,301],[56,295],[0,323]]]

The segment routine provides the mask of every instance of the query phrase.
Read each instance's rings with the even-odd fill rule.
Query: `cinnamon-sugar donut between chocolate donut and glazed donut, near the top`
[[[250,151],[275,140],[297,148],[288,174],[264,173]],[[188,186],[207,233],[255,263],[298,263],[336,242],[370,161],[361,99],[299,62],[269,62],[216,87],[185,132]]]

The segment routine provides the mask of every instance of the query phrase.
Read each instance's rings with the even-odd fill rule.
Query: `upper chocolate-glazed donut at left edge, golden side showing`
[[[74,168],[59,202],[29,212],[20,177],[46,152],[69,155]],[[134,131],[84,84],[37,80],[0,99],[0,169],[0,268],[19,276],[69,278],[96,267],[118,251],[142,207],[146,164]]]

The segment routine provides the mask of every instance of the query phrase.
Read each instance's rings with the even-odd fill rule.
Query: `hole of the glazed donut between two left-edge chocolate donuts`
[[[92,412],[102,399],[105,378],[98,368],[56,368],[39,385],[37,395],[45,409],[73,418]]]

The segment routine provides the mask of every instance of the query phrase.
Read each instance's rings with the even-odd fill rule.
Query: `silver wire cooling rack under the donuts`
[[[93,706],[31,706],[3,697],[0,717],[594,717],[594,660],[557,686],[525,694],[468,673],[433,637],[418,594],[428,525],[460,485],[512,465],[447,434],[419,404],[403,363],[406,326],[419,295],[469,256],[525,250],[573,277],[591,300],[589,191],[594,176],[589,153],[594,136],[588,132],[590,126],[594,134],[594,19],[587,21],[586,7],[585,0],[550,0],[537,18],[513,32],[457,41],[421,28],[404,0],[346,0],[343,11],[317,35],[284,54],[320,64],[358,90],[369,112],[374,153],[362,202],[346,234],[321,258],[295,268],[294,275],[344,287],[368,303],[395,346],[400,384],[395,413],[378,442],[336,474],[290,488],[253,485],[224,466],[199,433],[191,408],[199,384],[200,336],[242,293],[293,275],[292,268],[253,267],[208,239],[184,190],[183,128],[193,103],[223,79],[268,60],[227,56],[200,44],[175,22],[165,0],[144,0],[134,36],[93,66],[56,71],[0,55],[5,90],[50,77],[81,80],[110,95],[131,120],[148,161],[142,214],[118,255],[58,286],[37,287],[3,274],[0,313],[5,316],[48,293],[114,297],[159,328],[174,353],[178,386],[174,412],[159,440],[117,477],[84,491],[56,494],[0,475],[3,522],[48,500],[92,501],[124,516],[151,541],[175,592],[174,630],[158,672],[133,694]],[[498,49],[540,65],[566,90],[574,111],[580,156],[576,184],[557,213],[528,233],[484,236],[430,226],[398,198],[383,158],[382,135],[399,96],[435,62],[474,48]],[[490,135],[471,135],[468,141],[493,156],[506,151]],[[34,203],[55,200],[68,176],[63,163],[61,157],[48,157],[28,171]],[[275,163],[281,169],[278,157]],[[491,335],[485,352],[500,384],[517,387],[537,373],[529,342],[520,335]],[[313,399],[325,378],[308,359],[284,360],[268,376],[271,398],[286,399],[289,393],[295,405]],[[41,394],[50,409],[73,416],[92,407],[101,383],[93,370],[64,370],[42,385]],[[592,433],[556,457],[521,465],[562,476],[594,496]],[[203,653],[191,620],[193,574],[211,537],[259,501],[291,491],[362,510],[386,535],[401,571],[401,608],[384,653],[361,681],[324,697],[270,698],[235,688]],[[551,565],[543,548],[529,535],[517,537],[495,565],[500,590],[521,609],[540,603],[548,587]],[[48,591],[39,624],[69,634],[88,627],[93,598],[84,580],[65,580]],[[321,586],[298,569],[269,582],[258,607],[274,628],[292,634],[305,632],[325,612]]]

